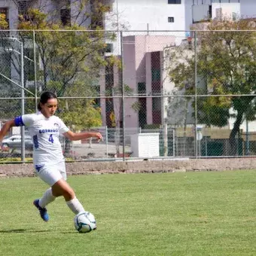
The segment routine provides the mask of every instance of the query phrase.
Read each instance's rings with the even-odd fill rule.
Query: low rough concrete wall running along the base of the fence
[[[141,162],[84,162],[66,163],[68,175],[99,175],[136,172],[197,172],[255,169],[256,158],[220,158],[190,160],[156,160]],[[0,177],[33,177],[32,163],[2,164]]]

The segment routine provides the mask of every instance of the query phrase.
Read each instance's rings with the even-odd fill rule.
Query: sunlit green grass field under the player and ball
[[[81,234],[62,198],[44,223],[38,178],[0,179],[1,255],[256,255],[256,172],[71,176],[97,230]]]

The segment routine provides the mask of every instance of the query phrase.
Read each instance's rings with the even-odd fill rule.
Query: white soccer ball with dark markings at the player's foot
[[[79,212],[74,218],[75,229],[79,233],[88,233],[96,230],[96,221],[90,212]]]

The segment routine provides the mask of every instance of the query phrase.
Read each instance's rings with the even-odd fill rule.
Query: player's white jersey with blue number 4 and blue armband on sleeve
[[[24,114],[15,118],[16,126],[27,126],[33,140],[33,161],[36,169],[64,161],[59,135],[69,128],[59,117],[44,117],[38,114]]]

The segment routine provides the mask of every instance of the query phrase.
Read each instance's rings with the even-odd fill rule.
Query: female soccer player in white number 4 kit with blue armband
[[[49,220],[45,206],[56,197],[63,196],[72,212],[84,212],[84,207],[75,197],[72,187],[66,182],[66,166],[59,142],[59,135],[75,141],[95,137],[102,139],[100,133],[72,133],[71,130],[54,114],[57,109],[57,97],[50,92],[41,94],[37,114],[24,114],[9,120],[0,131],[0,142],[12,126],[27,126],[33,139],[33,163],[38,176],[50,185],[40,199],[33,204],[39,210],[44,221]]]

